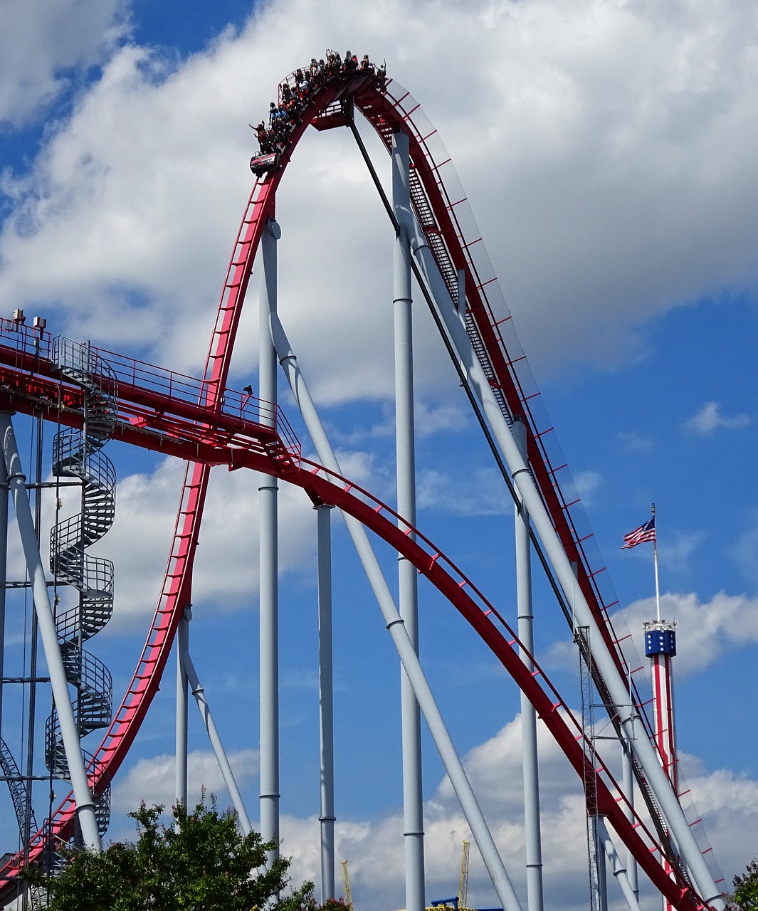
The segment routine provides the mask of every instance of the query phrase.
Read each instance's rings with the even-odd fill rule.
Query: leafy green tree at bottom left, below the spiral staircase
[[[193,811],[174,807],[173,824],[162,812],[142,804],[129,814],[137,842],[68,853],[58,875],[26,879],[47,893],[49,911],[315,911],[312,883],[290,888],[287,858],[266,867],[273,843],[241,835],[233,812],[219,814],[204,794]]]

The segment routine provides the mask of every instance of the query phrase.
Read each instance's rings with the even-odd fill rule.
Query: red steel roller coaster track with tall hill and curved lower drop
[[[509,420],[520,416],[528,428],[529,463],[569,559],[578,567],[579,585],[599,621],[620,667],[623,659],[608,621],[610,604],[599,589],[600,570],[593,570],[586,553],[586,537],[578,530],[575,502],[567,502],[558,477],[565,468],[556,463],[548,440],[552,428],[540,424],[533,381],[526,362],[510,335],[510,317],[498,301],[497,281],[480,239],[470,236],[464,223],[467,211],[462,191],[456,191],[455,172],[444,179],[449,158],[440,158],[435,130],[425,128],[420,107],[405,90],[390,82],[381,86],[373,76],[353,77],[323,87],[292,132],[279,167],[259,179],[252,189],[231,254],[220,305],[210,339],[202,380],[132,361],[116,353],[98,352],[118,377],[118,424],[115,437],[187,461],[179,514],[169,551],[168,566],[145,647],[128,690],[96,753],[90,783],[97,792],[123,762],[139,725],[158,691],[174,634],[184,606],[189,603],[192,564],[211,466],[247,467],[297,486],[316,502],[343,509],[383,537],[413,562],[466,618],[497,655],[508,673],[537,709],[569,762],[581,776],[586,756],[584,732],[544,673],[532,674],[518,657],[517,639],[497,611],[476,587],[421,533],[417,539],[398,530],[397,516],[373,496],[322,466],[302,458],[292,431],[276,409],[275,420],[261,422],[271,408],[250,396],[226,388],[230,358],[251,276],[252,263],[266,222],[273,215],[274,198],[297,141],[311,124],[325,126],[334,105],[354,106],[371,123],[389,148],[392,133],[403,130],[410,140],[411,192],[415,213],[435,254],[435,260],[456,300],[457,276],[465,274],[466,320],[469,337],[501,408]],[[321,121],[321,123],[320,123]],[[439,144],[437,143],[437,146]],[[452,167],[452,166],[450,166]],[[482,257],[483,253],[483,257]],[[502,312],[500,312],[502,310]],[[508,345],[506,344],[508,342]],[[49,358],[45,333],[34,333],[13,322],[0,323],[0,407],[37,414],[68,425],[80,425],[80,391],[56,374]],[[274,424],[271,427],[271,423]],[[630,809],[605,765],[597,770],[599,810],[606,814],[621,840],[630,847],[652,883],[681,911],[702,906],[686,879],[668,875],[662,863],[671,851],[639,817],[629,822]],[[108,776],[108,778],[106,777]],[[34,860],[52,838],[66,839],[74,824],[73,796],[68,795],[51,820],[32,839]],[[0,870],[0,899],[13,888],[19,858]],[[3,885],[5,883],[5,887]]]

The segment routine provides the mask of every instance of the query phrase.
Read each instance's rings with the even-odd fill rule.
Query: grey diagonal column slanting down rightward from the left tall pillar
[[[287,340],[287,336],[282,328],[279,317],[271,314],[271,337],[282,364],[284,373],[289,381],[292,394],[300,408],[302,419],[305,422],[308,432],[311,435],[313,445],[316,448],[322,465],[329,468],[330,471],[340,472],[340,466],[334,456],[332,446],[327,439],[323,430],[321,419],[316,411],[315,405],[308,387],[302,378],[300,367],[297,364],[297,358],[292,353],[292,348]],[[424,713],[426,724],[429,732],[435,742],[440,759],[445,766],[445,771],[450,778],[450,783],[456,792],[458,802],[461,805],[463,814],[466,816],[471,834],[482,855],[482,860],[487,868],[492,885],[497,893],[497,898],[505,911],[522,911],[513,885],[508,878],[506,868],[500,855],[497,853],[497,846],[493,841],[492,834],[487,827],[487,821],[482,814],[481,807],[476,800],[476,794],[471,788],[471,783],[466,777],[466,771],[461,763],[460,757],[456,752],[456,747],[447,731],[445,720],[442,717],[439,708],[435,702],[435,697],[426,680],[425,673],[418,660],[413,642],[405,629],[405,622],[400,616],[392,596],[392,592],[387,585],[386,579],[376,559],[374,549],[369,543],[368,535],[363,525],[352,516],[343,513],[344,522],[350,537],[353,539],[353,546],[358,554],[358,558],[364,567],[366,578],[374,591],[374,597],[382,611],[384,622],[387,630],[392,637],[393,644],[397,650],[400,660],[403,663],[405,673],[413,687],[415,697]]]

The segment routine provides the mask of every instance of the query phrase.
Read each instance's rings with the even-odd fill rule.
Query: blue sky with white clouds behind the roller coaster
[[[7,15],[4,315],[20,306],[44,315],[55,334],[191,375],[202,369],[250,191],[247,124],[286,73],[326,46],[386,58],[454,157],[640,650],[640,622],[653,611],[651,548],[622,552],[620,543],[656,503],[664,615],[680,624],[681,751],[723,872],[728,880],[741,872],[758,854],[752,6],[504,0],[464,11],[448,0],[384,0],[358,16],[344,0],[260,8],[36,0]],[[345,474],[392,502],[392,235],[349,136],[312,133],[278,200],[282,322]],[[387,179],[378,144],[367,142]],[[512,508],[421,303],[415,326],[419,526],[512,617]],[[233,385],[254,381],[256,350],[253,280]],[[310,453],[283,384],[282,405]],[[119,698],[157,597],[181,472],[123,445],[108,448],[118,519],[99,551],[118,555],[117,604],[92,650],[113,670]],[[253,817],[255,489],[239,473],[214,478],[191,632]],[[283,850],[295,856],[296,875],[314,877],[313,514],[299,491],[286,489],[281,512]],[[404,901],[399,677],[337,520],[334,529],[338,850],[350,862],[356,904],[372,911]],[[392,579],[393,555],[380,554]],[[568,630],[535,575],[538,657],[578,706]],[[13,610],[6,666],[19,667],[24,605]],[[521,883],[517,691],[424,588],[421,617],[433,689]],[[9,743],[20,736],[16,710],[8,696]],[[114,784],[114,837],[129,834],[125,814],[140,797],[171,799],[173,711],[169,665]],[[192,781],[217,789],[223,803],[192,724]],[[541,748],[548,896],[561,908],[584,906],[577,783],[551,744]],[[427,742],[430,898],[455,891],[466,836],[443,777]],[[0,799],[9,849],[12,812]],[[493,904],[476,856],[471,890],[477,903]]]

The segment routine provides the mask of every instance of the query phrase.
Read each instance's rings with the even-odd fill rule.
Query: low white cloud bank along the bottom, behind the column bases
[[[546,906],[587,906],[587,843],[584,802],[579,779],[558,747],[539,728],[540,799]],[[485,810],[508,875],[524,903],[524,822],[521,779],[520,721],[509,722],[491,740],[465,757],[466,771]],[[758,783],[724,770],[707,773],[702,764],[682,757],[692,792],[705,820],[715,855],[727,872],[740,871],[752,858],[758,834],[755,807]],[[339,809],[338,809],[339,815]],[[734,839],[733,833],[746,837]],[[445,779],[425,802],[426,897],[455,895],[461,843],[471,838],[466,820]],[[336,824],[337,857],[350,866],[353,897],[367,911],[403,907],[403,817],[399,811],[378,821],[343,820]],[[282,818],[282,852],[292,855],[294,879],[319,881],[318,821],[315,817]],[[620,843],[617,843],[620,844]],[[623,846],[620,845],[621,851]],[[654,902],[644,876],[642,901]],[[338,889],[339,894],[339,889]],[[471,849],[469,904],[492,906],[497,899],[478,855]],[[612,877],[609,901],[625,907]],[[427,902],[428,903],[428,902]],[[644,905],[643,905],[644,906]]]

